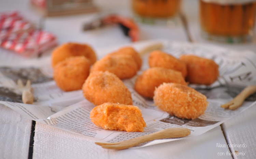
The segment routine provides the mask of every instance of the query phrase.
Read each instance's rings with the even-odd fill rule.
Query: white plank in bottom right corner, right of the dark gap
[[[234,158],[255,158],[256,156],[256,107],[245,110],[236,117],[223,123],[231,152],[237,152]],[[246,147],[245,147],[246,146]]]

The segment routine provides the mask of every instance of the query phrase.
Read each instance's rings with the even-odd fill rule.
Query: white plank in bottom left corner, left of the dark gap
[[[0,158],[27,159],[31,120],[0,105]]]

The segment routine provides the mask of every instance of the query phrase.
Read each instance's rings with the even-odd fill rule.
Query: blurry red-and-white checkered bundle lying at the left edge
[[[34,29],[18,12],[0,14],[1,47],[29,56],[56,45],[56,37],[53,34]]]

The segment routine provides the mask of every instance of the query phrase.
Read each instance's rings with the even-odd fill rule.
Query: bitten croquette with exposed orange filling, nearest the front
[[[141,110],[132,105],[104,103],[91,110],[90,118],[103,129],[143,132],[146,126]]]

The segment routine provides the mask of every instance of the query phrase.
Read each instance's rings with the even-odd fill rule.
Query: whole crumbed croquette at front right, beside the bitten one
[[[155,105],[180,118],[195,119],[207,109],[207,98],[195,89],[179,83],[163,83],[154,92]]]

